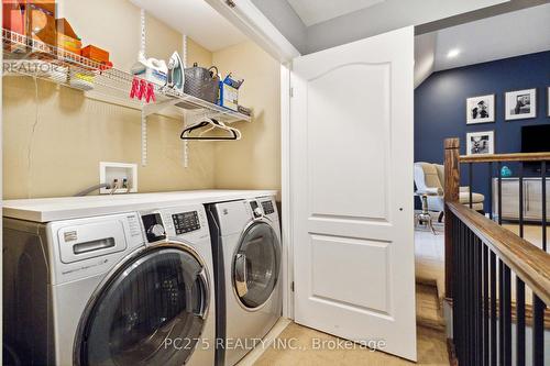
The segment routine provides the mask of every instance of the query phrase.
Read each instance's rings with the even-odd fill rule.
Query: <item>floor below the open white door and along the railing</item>
[[[419,325],[417,326],[418,363],[416,365],[449,365],[447,337],[443,332],[438,292],[433,286],[417,285],[417,322]],[[312,350],[315,341],[337,341],[338,337],[296,323],[287,325],[277,339],[278,341],[268,347],[254,365],[415,365],[415,363],[380,351],[373,352],[359,347],[355,350]],[[277,346],[285,342],[298,350]]]

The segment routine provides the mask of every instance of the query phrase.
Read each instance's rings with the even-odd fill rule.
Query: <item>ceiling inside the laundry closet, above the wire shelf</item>
[[[205,0],[130,0],[160,21],[186,34],[210,52],[246,40]]]

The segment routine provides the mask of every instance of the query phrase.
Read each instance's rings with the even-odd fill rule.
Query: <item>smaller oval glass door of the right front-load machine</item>
[[[261,221],[250,225],[233,258],[233,286],[244,307],[255,309],[270,299],[279,266],[280,244],[273,228]]]

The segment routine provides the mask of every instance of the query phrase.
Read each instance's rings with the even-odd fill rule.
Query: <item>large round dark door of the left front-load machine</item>
[[[91,304],[75,361],[180,366],[199,341],[208,299],[206,269],[191,251],[147,249],[121,266]]]

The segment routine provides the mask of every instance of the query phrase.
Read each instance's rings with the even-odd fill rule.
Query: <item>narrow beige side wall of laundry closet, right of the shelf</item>
[[[252,42],[212,59],[222,75],[244,78],[239,103],[254,110],[251,123],[235,124],[241,141],[216,146],[216,187],[280,190],[280,64]]]

